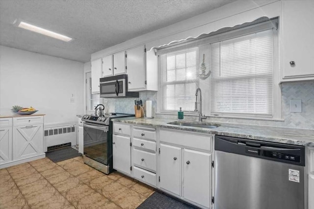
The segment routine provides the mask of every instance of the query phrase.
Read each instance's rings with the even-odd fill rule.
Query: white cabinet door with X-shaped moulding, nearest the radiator
[[[43,124],[13,127],[13,160],[36,156],[43,152]]]

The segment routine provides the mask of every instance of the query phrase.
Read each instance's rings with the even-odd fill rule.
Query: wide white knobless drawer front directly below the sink
[[[180,131],[160,130],[160,142],[211,151],[211,136],[190,134]]]

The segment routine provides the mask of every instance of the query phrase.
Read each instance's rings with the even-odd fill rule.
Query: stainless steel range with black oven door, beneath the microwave
[[[111,113],[104,116],[84,115],[83,160],[105,174],[113,171],[112,168],[112,121],[111,118],[133,116],[129,114]]]

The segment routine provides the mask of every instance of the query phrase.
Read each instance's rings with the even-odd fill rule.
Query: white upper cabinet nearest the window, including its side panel
[[[127,50],[128,90],[158,91],[158,64],[154,50],[146,52],[145,46]]]

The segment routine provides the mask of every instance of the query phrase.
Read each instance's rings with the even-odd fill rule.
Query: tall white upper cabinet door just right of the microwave
[[[145,46],[138,46],[127,51],[127,74],[129,91],[145,89]]]

